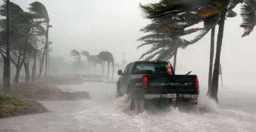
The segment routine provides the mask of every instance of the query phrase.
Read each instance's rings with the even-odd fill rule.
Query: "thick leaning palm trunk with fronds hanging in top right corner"
[[[240,26],[244,28],[242,37],[249,36],[249,34],[253,31],[253,28],[256,25],[256,1],[254,0],[230,1],[229,6],[221,12],[219,21],[219,31],[217,36],[217,49],[215,53],[215,64],[213,69],[213,80],[211,84],[211,91],[209,92],[209,96],[215,99],[217,102],[217,92],[219,86],[219,63],[221,56],[223,32],[225,26],[225,18],[230,16],[231,13],[234,14],[234,12],[232,12],[231,9],[235,8],[239,3],[241,3],[241,17],[243,18],[243,22],[240,24]]]

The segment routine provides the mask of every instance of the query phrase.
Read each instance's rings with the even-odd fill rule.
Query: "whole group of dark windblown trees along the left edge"
[[[0,6],[0,15],[6,16],[6,1]],[[11,19],[11,62],[15,67],[13,84],[19,84],[22,68],[25,71],[25,82],[35,81],[48,71],[49,28],[51,28],[47,8],[35,1],[24,11],[19,5],[10,2]],[[0,54],[3,59],[3,86],[6,79],[6,46],[5,46],[6,19],[0,20]],[[39,62],[37,62],[39,61]],[[37,67],[39,63],[39,67]],[[45,65],[44,65],[45,64]],[[32,65],[32,67],[30,67]],[[38,71],[38,73],[37,73]]]

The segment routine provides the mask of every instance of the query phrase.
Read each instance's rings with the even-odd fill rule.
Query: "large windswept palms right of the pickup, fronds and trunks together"
[[[238,6],[243,20],[240,26],[244,29],[241,37],[249,36],[256,24],[255,0],[160,0],[158,3],[140,4],[145,17],[151,20],[150,24],[140,30],[148,35],[138,39],[143,42],[138,48],[151,46],[140,59],[167,61],[174,57],[176,67],[178,49],[196,44],[211,31],[207,95],[218,102],[219,65],[225,20],[237,16],[233,9]],[[216,26],[219,28],[217,42]],[[192,39],[186,38],[191,34]]]

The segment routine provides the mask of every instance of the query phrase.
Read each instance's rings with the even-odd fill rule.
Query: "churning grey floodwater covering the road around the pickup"
[[[84,82],[60,86],[68,91],[87,91],[90,100],[43,102],[51,112],[0,119],[1,132],[108,132],[108,131],[256,131],[256,88],[229,86],[219,90],[219,105],[201,90],[199,105],[188,112],[177,108],[135,114],[128,111],[127,97],[115,98],[116,86]]]

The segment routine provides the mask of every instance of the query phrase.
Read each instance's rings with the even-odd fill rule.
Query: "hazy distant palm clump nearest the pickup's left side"
[[[114,79],[114,57],[112,53],[109,51],[101,51],[98,54],[98,57],[102,59],[102,73],[104,73],[104,63],[108,63],[108,73],[107,73],[107,78],[109,79],[109,73],[110,73],[110,63],[112,63],[112,79]]]

